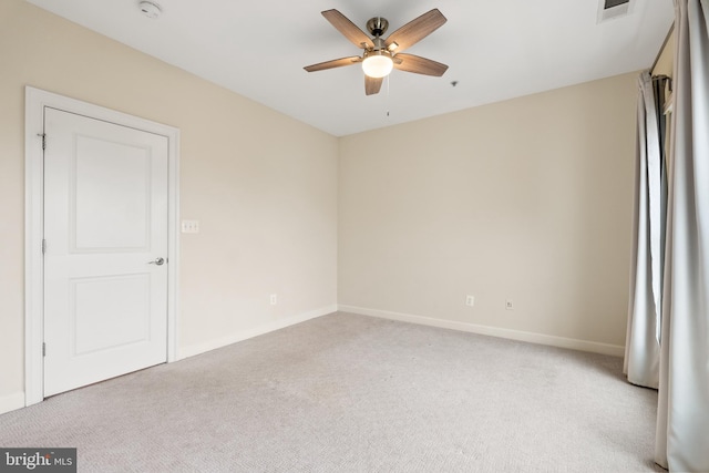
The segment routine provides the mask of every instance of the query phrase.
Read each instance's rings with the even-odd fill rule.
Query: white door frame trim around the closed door
[[[167,362],[177,360],[179,128],[29,85],[25,86],[24,99],[24,405],[31,405],[44,400],[44,107],[167,137]]]

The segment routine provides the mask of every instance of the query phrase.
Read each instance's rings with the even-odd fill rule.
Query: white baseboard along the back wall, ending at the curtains
[[[555,337],[552,335],[534,333],[521,330],[504,329],[500,327],[480,326],[454,320],[434,319],[431,317],[412,316],[409,313],[391,312],[388,310],[368,309],[356,306],[338,306],[338,311],[359,313],[361,316],[379,317],[382,319],[399,320],[402,322],[420,323],[423,326],[466,331],[471,333],[487,335],[491,337],[507,338],[511,340],[527,341],[531,343],[547,345],[549,347],[568,348],[572,350],[589,351],[592,353],[612,354],[623,357],[625,347],[597,341],[578,340],[574,338]]]

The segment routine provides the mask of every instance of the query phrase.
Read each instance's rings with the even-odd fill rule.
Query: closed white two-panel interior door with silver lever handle
[[[44,395],[167,359],[167,137],[44,112]]]

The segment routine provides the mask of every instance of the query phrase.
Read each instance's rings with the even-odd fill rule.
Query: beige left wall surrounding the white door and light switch
[[[24,1],[2,0],[0,412],[24,385],[25,85],[181,130],[181,215],[198,219],[201,234],[181,236],[178,352],[336,308],[337,138]]]

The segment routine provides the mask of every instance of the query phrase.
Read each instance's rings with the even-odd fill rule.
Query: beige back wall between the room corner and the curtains
[[[623,346],[637,76],[341,138],[338,302]]]

